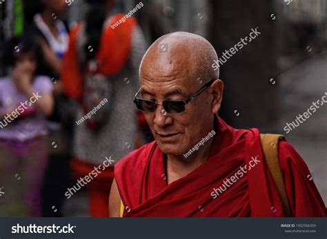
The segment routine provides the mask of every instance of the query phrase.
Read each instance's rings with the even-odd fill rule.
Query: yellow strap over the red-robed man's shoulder
[[[281,174],[278,156],[278,143],[283,138],[284,136],[281,134],[260,134],[261,146],[264,151],[266,164],[271,175],[273,176],[279,196],[281,197],[281,203],[283,204],[285,216],[290,217],[292,216],[292,213],[290,211],[290,205],[286,194],[283,174]]]

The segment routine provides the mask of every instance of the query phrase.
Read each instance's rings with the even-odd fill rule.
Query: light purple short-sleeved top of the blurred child
[[[52,91],[52,82],[48,76],[37,76],[32,88],[35,94],[39,92],[39,96],[42,96],[44,93]],[[16,89],[10,77],[0,79],[0,112],[11,108],[16,110],[21,103],[26,101],[29,102],[30,98]],[[28,104],[26,108],[26,111],[37,110],[35,103]],[[24,108],[20,107],[20,109]],[[23,114],[23,112],[21,113]],[[0,141],[28,141],[47,133],[46,117],[38,111],[33,116],[14,118],[14,121],[10,123],[0,118]]]

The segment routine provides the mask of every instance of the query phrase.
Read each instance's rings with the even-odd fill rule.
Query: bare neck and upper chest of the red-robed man
[[[212,139],[197,152],[193,152],[193,154],[188,158],[185,158],[183,155],[166,155],[165,166],[168,184],[178,180],[179,178],[185,177],[206,162],[209,156],[211,144]]]

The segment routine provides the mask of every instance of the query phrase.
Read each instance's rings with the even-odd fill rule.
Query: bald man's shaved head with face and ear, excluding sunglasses
[[[218,79],[219,70],[212,67],[214,61],[217,54],[212,45],[188,32],[160,37],[143,56],[138,98],[157,103],[155,112],[144,112],[144,116],[161,152],[168,157],[185,160],[183,154],[213,129],[213,114],[220,108],[224,89]],[[203,88],[210,80],[213,83]],[[162,105],[164,101],[185,103],[200,89],[204,90],[182,112],[166,112]],[[194,155],[200,153],[199,150]]]

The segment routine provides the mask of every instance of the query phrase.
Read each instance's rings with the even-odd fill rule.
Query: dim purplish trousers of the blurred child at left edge
[[[44,137],[0,141],[0,182],[8,189],[0,200],[0,217],[41,216],[41,189],[48,165],[46,142]]]

